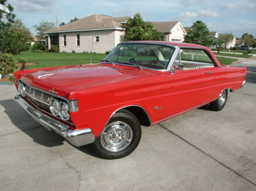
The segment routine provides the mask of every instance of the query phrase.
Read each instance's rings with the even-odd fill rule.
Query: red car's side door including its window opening
[[[200,107],[209,101],[208,66],[212,63],[200,62],[206,56],[196,49],[180,49],[181,66],[175,69],[177,59],[170,74],[170,116]],[[205,63],[205,66],[204,66]]]

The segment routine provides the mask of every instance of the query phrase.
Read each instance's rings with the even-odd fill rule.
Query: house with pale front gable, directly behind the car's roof
[[[164,33],[166,41],[183,42],[187,32],[179,21],[153,22],[158,32]]]

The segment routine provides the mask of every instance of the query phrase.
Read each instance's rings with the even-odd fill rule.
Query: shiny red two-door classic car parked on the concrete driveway
[[[138,146],[141,125],[206,104],[220,111],[245,77],[245,67],[222,66],[204,46],[130,41],[98,64],[17,71],[14,100],[72,145],[117,159]]]

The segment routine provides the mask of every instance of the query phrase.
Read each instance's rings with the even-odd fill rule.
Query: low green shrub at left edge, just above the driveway
[[[13,54],[0,53],[0,74],[10,74],[18,68],[17,61],[13,58]]]

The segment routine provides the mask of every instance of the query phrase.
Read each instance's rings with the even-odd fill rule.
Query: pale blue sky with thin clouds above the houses
[[[237,37],[250,33],[256,38],[255,0],[8,0],[16,18],[22,19],[32,33],[42,21],[68,23],[93,14],[134,16],[147,21],[177,21],[191,27],[196,20],[207,24],[210,32],[231,32]],[[59,24],[58,24],[59,26]]]

